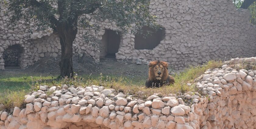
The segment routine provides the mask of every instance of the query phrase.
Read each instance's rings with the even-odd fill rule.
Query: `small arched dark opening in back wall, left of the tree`
[[[9,46],[3,53],[3,59],[5,61],[5,69],[20,68],[22,53],[23,53],[23,48],[20,45]]]

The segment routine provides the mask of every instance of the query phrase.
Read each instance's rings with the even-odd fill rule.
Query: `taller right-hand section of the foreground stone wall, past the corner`
[[[222,68],[209,69],[195,79],[200,93],[209,100],[207,107],[200,109],[200,128],[256,127],[252,122],[256,115],[256,70],[236,69],[246,62],[256,64],[256,58],[231,59]]]

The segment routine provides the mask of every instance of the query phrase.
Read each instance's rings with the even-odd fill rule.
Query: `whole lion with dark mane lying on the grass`
[[[168,63],[164,61],[151,61],[149,63],[148,79],[146,87],[161,87],[163,85],[173,84],[174,78],[168,74]]]

